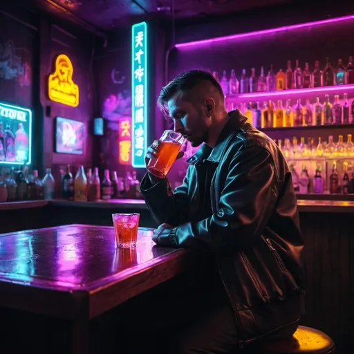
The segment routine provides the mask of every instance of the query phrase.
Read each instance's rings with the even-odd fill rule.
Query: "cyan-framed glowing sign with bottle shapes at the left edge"
[[[0,102],[0,165],[30,165],[32,111]]]

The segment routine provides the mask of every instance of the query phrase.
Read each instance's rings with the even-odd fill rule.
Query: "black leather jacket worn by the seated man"
[[[151,186],[145,176],[141,191],[153,218],[176,226],[171,245],[216,253],[243,346],[304,314],[304,243],[281,151],[239,111],[229,115],[214,149],[203,145],[189,158],[183,185],[172,192],[167,179]],[[201,161],[215,171],[213,214],[193,221]]]

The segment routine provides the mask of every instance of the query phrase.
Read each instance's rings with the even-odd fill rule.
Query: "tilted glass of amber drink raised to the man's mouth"
[[[181,133],[166,130],[160,138],[156,158],[151,158],[147,165],[149,172],[158,178],[165,178],[184,143]]]

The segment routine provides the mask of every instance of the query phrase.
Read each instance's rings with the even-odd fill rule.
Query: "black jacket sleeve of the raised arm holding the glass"
[[[183,185],[177,187],[173,192],[167,178],[152,185],[149,176],[145,174],[140,184],[140,191],[151,216],[158,225],[169,223],[172,226],[177,226],[187,221],[189,211],[188,175],[189,167]]]

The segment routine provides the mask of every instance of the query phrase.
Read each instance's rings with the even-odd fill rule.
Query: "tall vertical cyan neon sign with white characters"
[[[145,167],[147,152],[147,24],[131,28],[131,165]]]

